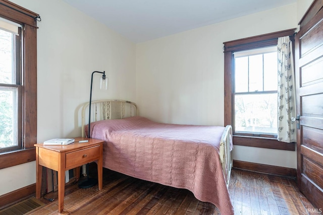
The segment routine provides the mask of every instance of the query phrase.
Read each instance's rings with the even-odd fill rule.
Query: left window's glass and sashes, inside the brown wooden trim
[[[21,45],[21,27],[0,20],[0,152],[22,147]]]

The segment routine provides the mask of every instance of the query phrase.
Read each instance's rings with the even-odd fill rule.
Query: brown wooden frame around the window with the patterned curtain
[[[224,87],[224,97],[225,97],[224,98],[224,109],[225,109],[224,122],[225,122],[225,125],[234,124],[234,117],[233,117],[234,107],[232,107],[232,104],[233,104],[232,93],[233,93],[233,84],[234,84],[233,53],[237,51],[274,46],[274,45],[277,45],[278,38],[284,37],[284,36],[290,36],[293,42],[293,52],[294,52],[295,30],[296,29],[289,29],[285,31],[279,31],[279,32],[224,42],[224,86],[225,86]],[[233,135],[233,144],[238,146],[295,151],[295,144],[280,142],[276,138]]]

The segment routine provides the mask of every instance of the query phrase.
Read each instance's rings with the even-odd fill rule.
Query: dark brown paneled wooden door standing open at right
[[[301,192],[323,209],[323,1],[314,1],[295,37],[297,180]]]

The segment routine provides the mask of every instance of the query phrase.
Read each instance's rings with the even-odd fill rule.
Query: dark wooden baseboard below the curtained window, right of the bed
[[[245,161],[234,160],[233,168],[265,173],[265,174],[280,175],[284,177],[296,178],[297,176],[296,169],[292,169],[288,167],[278,167],[278,166],[272,166],[272,165],[266,165],[266,164],[250,163]]]

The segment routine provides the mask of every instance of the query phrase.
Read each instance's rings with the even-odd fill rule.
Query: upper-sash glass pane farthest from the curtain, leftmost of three
[[[235,92],[248,92],[248,57],[235,58]]]

